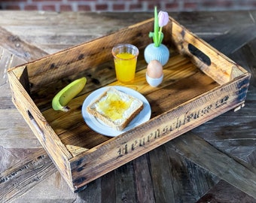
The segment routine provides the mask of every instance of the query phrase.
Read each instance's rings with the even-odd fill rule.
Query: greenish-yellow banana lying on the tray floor
[[[69,85],[61,89],[54,97],[52,101],[52,107],[56,111],[69,111],[68,103],[78,95],[79,92],[84,89],[84,86],[87,82],[86,77],[81,77],[77,80],[74,80]]]

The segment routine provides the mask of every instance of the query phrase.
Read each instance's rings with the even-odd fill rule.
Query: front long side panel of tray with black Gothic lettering
[[[249,74],[219,86],[71,159],[74,188],[218,117],[245,101]]]

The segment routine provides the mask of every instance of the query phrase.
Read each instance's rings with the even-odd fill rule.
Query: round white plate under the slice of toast
[[[109,86],[104,86],[102,88],[96,89],[94,92],[90,93],[90,95],[87,96],[87,98],[84,100],[83,106],[82,106],[82,115],[84,117],[85,123],[93,129],[94,131],[102,134],[107,135],[111,137],[115,137],[117,135],[122,134],[123,132],[126,132],[130,129],[133,129],[136,126],[139,126],[142,123],[145,123],[146,121],[150,120],[151,117],[151,106],[148,103],[148,100],[145,98],[144,95],[137,92],[136,90],[130,89],[125,86],[114,86],[114,88],[125,92],[128,95],[133,95],[136,98],[139,98],[143,102],[143,109],[142,111],[129,123],[128,126],[126,126],[123,131],[117,131],[112,129],[110,126],[105,125],[105,123],[102,123],[101,120],[96,119],[96,117],[93,117],[93,115],[89,114],[87,112],[87,106],[90,105],[90,103],[94,102],[96,98],[99,98],[100,95],[102,95],[103,92],[105,92],[106,89],[108,89]]]

